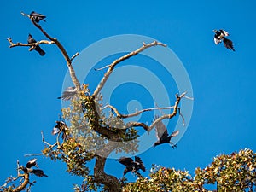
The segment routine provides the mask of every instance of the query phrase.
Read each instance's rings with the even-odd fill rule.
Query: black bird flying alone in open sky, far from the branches
[[[235,51],[233,42],[229,38],[225,38],[230,35],[229,32],[226,32],[223,29],[213,30],[213,32],[215,32],[215,35],[214,35],[215,44],[220,44],[223,41],[225,48]]]

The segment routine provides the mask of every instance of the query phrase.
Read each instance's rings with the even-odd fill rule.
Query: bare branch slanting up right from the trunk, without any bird
[[[104,84],[107,82],[108,80],[108,77],[110,76],[110,74],[113,72],[113,69],[114,67],[119,64],[119,62],[121,61],[125,61],[129,58],[131,58],[131,56],[134,56],[134,55],[137,55],[139,54],[140,52],[142,52],[144,49],[148,49],[149,47],[152,47],[152,46],[157,46],[157,45],[160,45],[160,46],[164,46],[166,47],[166,44],[162,44],[162,43],[159,43],[157,41],[154,41],[150,44],[145,44],[143,43],[143,46],[135,51],[132,51],[131,53],[129,54],[126,54],[124,56],[121,56],[119,59],[113,61],[113,63],[111,63],[110,65],[108,65],[108,71],[104,74],[101,82],[97,85],[96,87],[96,90],[94,91],[94,93],[92,94],[92,96],[97,96],[99,94],[99,92],[102,90]]]

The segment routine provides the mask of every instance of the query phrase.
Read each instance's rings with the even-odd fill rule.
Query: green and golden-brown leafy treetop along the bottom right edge
[[[123,192],[128,191],[210,191],[212,184],[217,191],[255,191],[256,154],[244,149],[230,155],[223,154],[214,158],[212,164],[204,169],[197,168],[195,177],[189,172],[173,168],[154,166],[149,178],[138,178],[135,183],[126,183]]]

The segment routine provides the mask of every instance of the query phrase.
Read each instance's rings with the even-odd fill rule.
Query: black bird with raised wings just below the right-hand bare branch
[[[156,117],[157,118],[157,117]],[[156,119],[155,118],[155,119]],[[158,122],[155,125],[156,129],[156,137],[157,142],[154,143],[154,147],[163,143],[170,143],[172,145],[172,148],[176,148],[177,145],[171,142],[172,137],[176,137],[179,133],[179,131],[173,131],[171,135],[168,135],[168,131],[166,129],[166,125],[163,124],[162,121]]]

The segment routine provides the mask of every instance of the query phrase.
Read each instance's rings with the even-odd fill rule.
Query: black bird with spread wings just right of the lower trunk
[[[141,174],[138,171],[140,169],[143,170],[143,172],[146,171],[143,161],[141,160],[141,158],[139,158],[137,156],[135,156],[134,161],[129,157],[121,157],[118,161],[119,161],[119,163],[121,163],[125,166],[124,175],[127,172],[134,172],[137,174],[137,176],[141,177]]]

